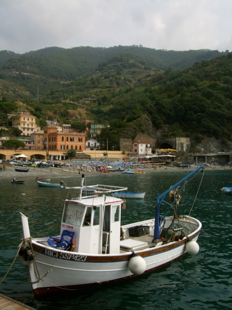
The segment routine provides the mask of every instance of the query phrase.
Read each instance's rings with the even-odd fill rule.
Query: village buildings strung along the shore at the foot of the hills
[[[58,124],[56,120],[47,121],[47,125],[43,127],[43,130],[36,124],[36,117],[29,113],[18,113],[11,116],[12,127],[18,128],[21,131],[20,137],[14,138],[25,143],[25,147],[15,150],[15,155],[20,153],[21,150],[30,151],[44,151],[44,159],[53,160],[65,160],[70,158],[69,150],[74,150],[74,159],[91,159],[91,155],[88,155],[88,151],[102,152],[102,157],[108,157],[108,139],[104,150],[101,148],[100,142],[97,140],[97,134],[101,133],[105,124],[92,124],[91,121],[84,120],[83,123],[86,126],[86,131],[75,130],[71,124]],[[88,124],[90,124],[90,130],[88,132]],[[4,153],[4,141],[12,139],[7,134],[7,128],[0,127],[2,136],[0,138],[0,148]],[[90,137],[87,137],[90,136]],[[2,145],[3,143],[3,145]],[[172,148],[172,146],[175,147]],[[114,146],[112,146],[114,152]],[[111,151],[112,151],[111,150]],[[56,152],[56,155],[54,155]],[[125,161],[139,161],[139,162],[151,162],[154,164],[170,164],[174,163],[176,157],[180,154],[185,154],[188,162],[197,163],[198,159],[202,160],[201,154],[192,156],[190,152],[190,139],[189,138],[162,138],[162,139],[150,139],[144,135],[137,135],[136,139],[120,139],[120,153]],[[178,154],[178,156],[176,156]],[[220,154],[220,155],[219,155]],[[116,155],[116,153],[115,153]],[[200,157],[199,157],[200,155]],[[211,154],[212,155],[212,154]],[[221,156],[222,155],[222,156]],[[219,162],[225,164],[231,161],[231,156],[225,155],[224,152],[217,152],[214,157],[220,156]],[[14,156],[13,156],[14,157]],[[211,156],[212,157],[212,156]],[[4,154],[0,154],[0,160],[6,159]],[[183,163],[183,158],[179,164]],[[203,161],[207,162],[207,156],[203,155]],[[212,158],[211,158],[212,161]],[[214,162],[218,162],[218,158]]]

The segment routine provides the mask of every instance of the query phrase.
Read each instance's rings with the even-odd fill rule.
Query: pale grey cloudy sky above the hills
[[[0,50],[232,50],[232,0],[0,0]]]

